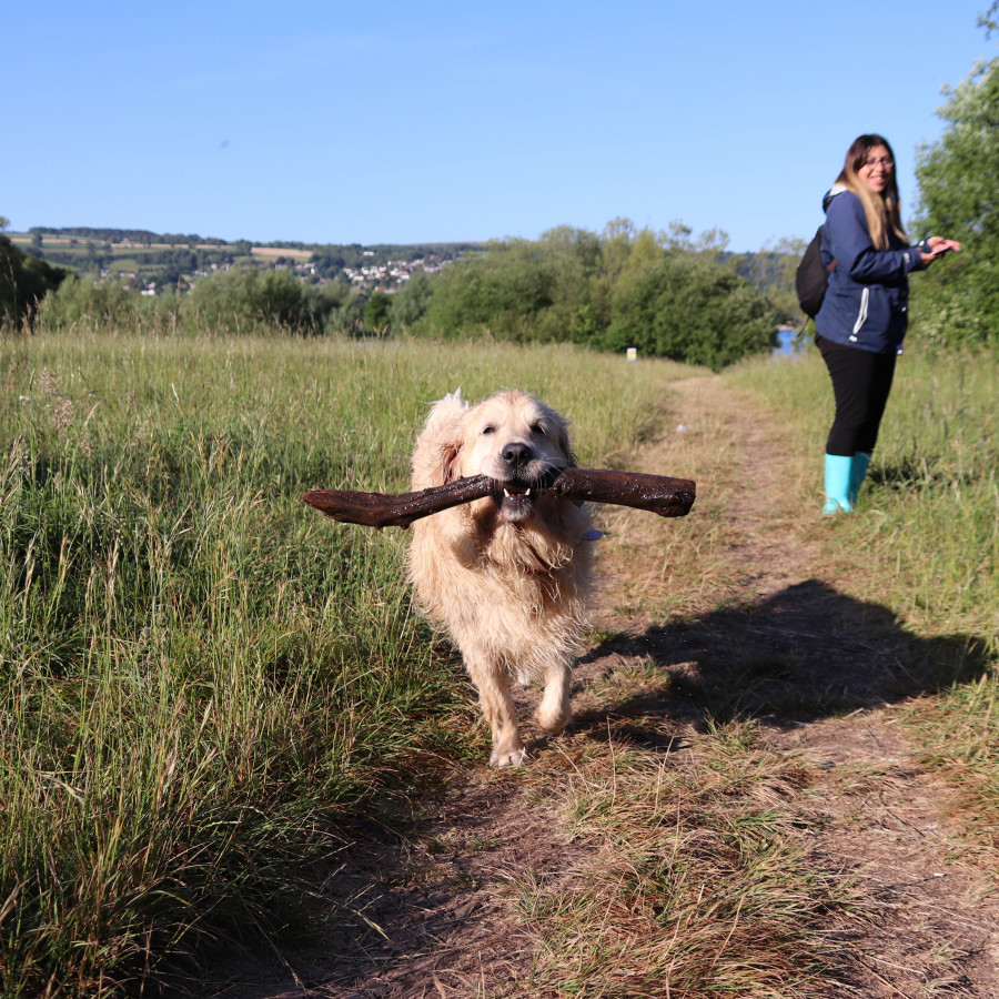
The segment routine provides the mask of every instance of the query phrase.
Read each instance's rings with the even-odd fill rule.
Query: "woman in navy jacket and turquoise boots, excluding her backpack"
[[[823,209],[823,263],[830,273],[815,342],[836,397],[823,507],[835,514],[852,509],[877,443],[908,326],[908,274],[961,244],[941,236],[909,244],[895,154],[881,135],[854,140]]]

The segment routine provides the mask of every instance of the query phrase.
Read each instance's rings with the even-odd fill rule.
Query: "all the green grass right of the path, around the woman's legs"
[[[795,364],[747,364],[727,377],[796,428],[789,461],[813,470],[803,474],[814,483],[817,511],[833,415],[818,354]],[[826,557],[847,567],[854,595],[889,607],[919,635],[948,637],[977,664],[977,679],[962,678],[901,715],[925,761],[956,783],[963,803],[958,825],[992,851],[999,851],[997,384],[995,353],[907,351],[857,515],[811,528]]]

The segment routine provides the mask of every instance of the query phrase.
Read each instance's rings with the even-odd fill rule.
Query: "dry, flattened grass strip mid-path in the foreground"
[[[566,775],[561,810],[589,855],[569,875],[517,881],[538,937],[529,995],[777,999],[828,986],[823,938],[848,892],[794,829],[807,767],[741,724],[680,757],[607,748]]]

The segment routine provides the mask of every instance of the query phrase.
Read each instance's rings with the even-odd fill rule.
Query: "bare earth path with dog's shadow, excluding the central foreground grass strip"
[[[724,379],[676,391],[689,428],[650,446],[640,467],[697,480],[690,517],[704,511],[724,522],[718,541],[702,537],[697,556],[712,561],[720,591],[688,595],[679,607],[650,598],[664,575],[657,544],[680,535],[683,552],[683,524],[607,513],[607,584],[598,638],[577,672],[573,729],[552,743],[534,733],[534,761],[519,774],[488,773],[484,754],[482,767],[456,773],[450,795],[427,803],[404,844],[362,838],[345,851],[330,884],[352,932],[280,960],[246,958],[228,969],[226,985],[203,995],[566,995],[525,985],[538,938],[511,889],[525,879],[577,882],[593,861],[546,787],[557,788],[594,740],[690,753],[686,737],[707,714],[756,719],[768,746],[801,755],[821,775],[801,806],[806,856],[849,881],[857,898],[855,914],[829,927],[830,939],[849,946],[830,968],[826,995],[999,996],[995,881],[959,856],[948,827],[951,793],[920,770],[894,716],[894,705],[931,692],[932,670],[967,649],[915,638],[886,608],[849,596],[842,579],[817,575],[814,546],[836,527],[818,516],[810,536],[789,527],[779,502],[794,493],[781,428]],[[708,433],[728,442],[724,476],[696,465]],[[638,698],[615,695],[616,678],[649,663],[673,683]],[[646,725],[652,715],[664,724]]]

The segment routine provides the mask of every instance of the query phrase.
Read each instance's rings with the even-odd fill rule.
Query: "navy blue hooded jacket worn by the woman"
[[[823,263],[836,261],[823,307],[819,336],[875,354],[901,353],[908,327],[908,274],[921,266],[915,246],[889,231],[889,249],[875,250],[864,204],[837,184],[823,199]]]

